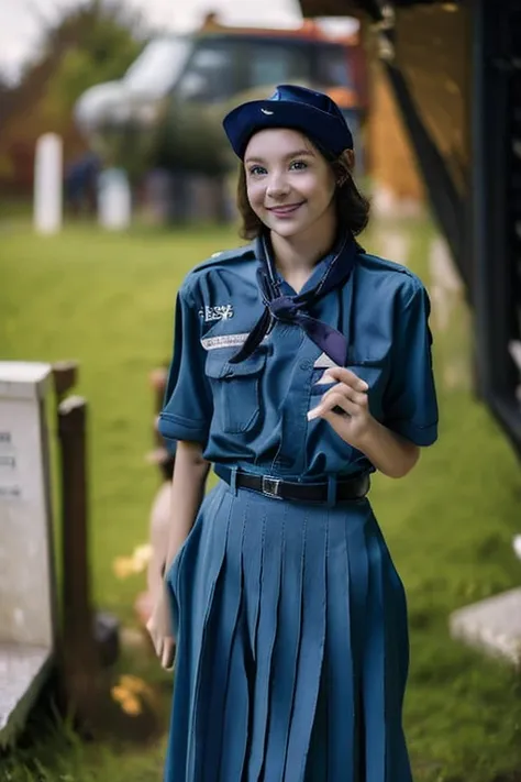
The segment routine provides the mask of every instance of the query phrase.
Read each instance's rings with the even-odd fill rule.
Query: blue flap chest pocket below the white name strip
[[[208,352],[206,374],[213,394],[213,409],[224,432],[252,430],[259,418],[260,381],[266,365],[263,346],[240,364],[230,364],[236,352],[219,348]]]

